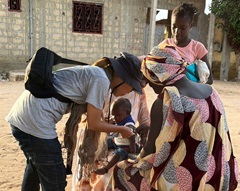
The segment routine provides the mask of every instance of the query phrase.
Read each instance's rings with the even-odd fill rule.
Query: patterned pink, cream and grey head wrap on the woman
[[[142,61],[141,70],[152,83],[170,85],[185,76],[186,65],[174,47],[160,49],[156,46]]]

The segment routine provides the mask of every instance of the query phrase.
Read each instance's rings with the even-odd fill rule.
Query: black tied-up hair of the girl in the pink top
[[[194,15],[198,12],[197,8],[190,3],[182,3],[181,5],[173,9],[172,15],[179,17],[188,17],[190,21],[193,21]]]

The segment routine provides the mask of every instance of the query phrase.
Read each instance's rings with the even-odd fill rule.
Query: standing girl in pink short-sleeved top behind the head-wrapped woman
[[[209,77],[206,83],[212,84],[213,77],[211,68],[207,59],[207,49],[204,45],[188,37],[189,30],[193,24],[194,14],[197,9],[188,3],[177,6],[171,17],[171,31],[173,38],[163,40],[158,46],[163,49],[166,46],[174,46],[179,54],[188,62],[194,63],[196,60],[202,60],[207,64]]]

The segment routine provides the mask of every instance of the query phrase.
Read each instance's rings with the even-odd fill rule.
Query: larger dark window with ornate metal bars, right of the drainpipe
[[[73,32],[102,33],[103,4],[73,1]]]

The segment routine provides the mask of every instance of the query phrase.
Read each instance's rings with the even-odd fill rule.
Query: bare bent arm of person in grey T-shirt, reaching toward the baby
[[[89,129],[106,133],[118,132],[121,133],[124,138],[130,138],[133,135],[128,127],[117,126],[102,121],[101,114],[102,111],[100,109],[97,109],[92,104],[87,104],[87,122]]]

